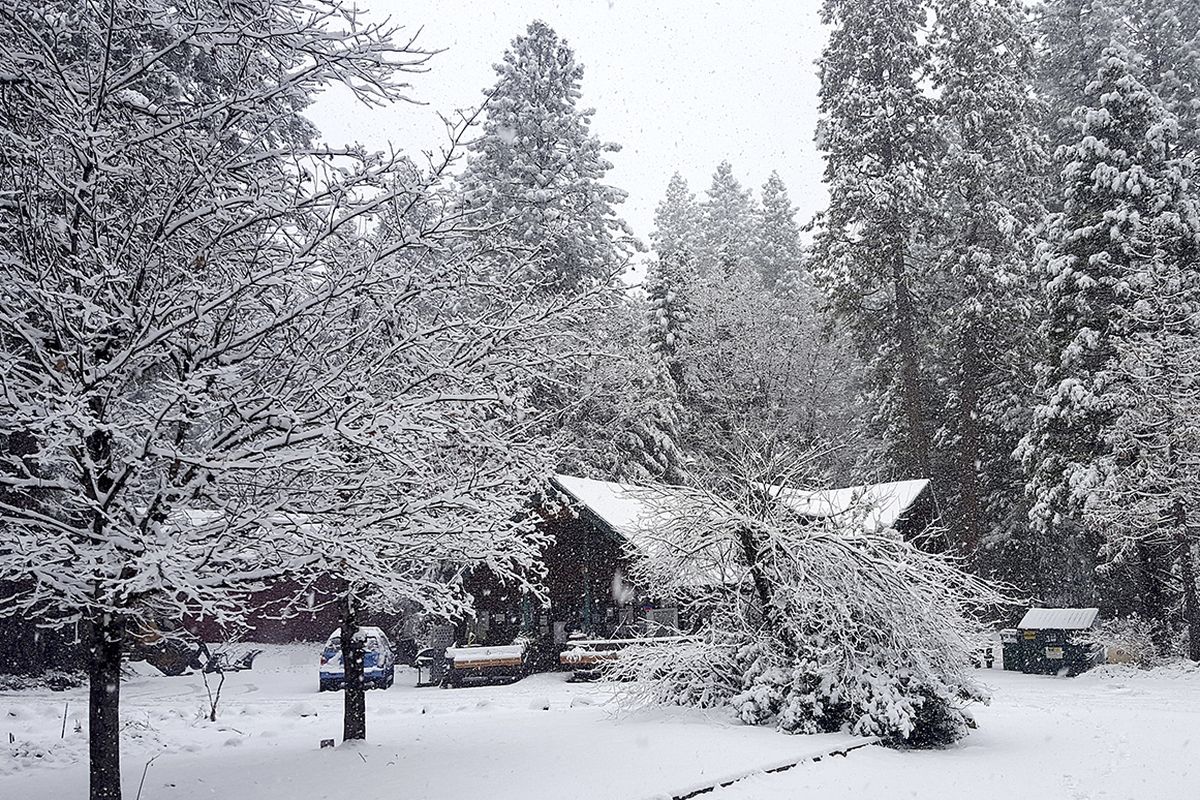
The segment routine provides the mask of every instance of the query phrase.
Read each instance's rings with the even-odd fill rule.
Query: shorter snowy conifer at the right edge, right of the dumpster
[[[1190,222],[1189,228],[1194,215]],[[1193,260],[1195,230],[1169,234],[1190,237]],[[1175,247],[1156,247],[1139,269],[1129,312],[1135,330],[1117,344],[1110,368],[1123,410],[1104,433],[1105,481],[1085,513],[1104,535],[1102,571],[1140,567],[1147,552],[1159,557],[1178,583],[1181,602],[1176,607],[1168,600],[1168,609],[1147,609],[1147,601],[1162,600],[1151,595],[1141,599],[1141,610],[1151,610],[1159,625],[1165,621],[1165,634],[1182,622],[1187,655],[1200,661],[1194,534],[1200,513],[1200,287],[1193,269],[1180,269],[1175,255],[1181,252],[1178,240]],[[1175,593],[1164,594],[1174,599]],[[1169,638],[1160,636],[1157,644],[1164,648]]]

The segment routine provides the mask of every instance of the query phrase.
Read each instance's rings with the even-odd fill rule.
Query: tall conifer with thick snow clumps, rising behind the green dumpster
[[[1110,434],[1127,410],[1114,365],[1133,333],[1140,242],[1158,215],[1171,212],[1159,207],[1154,175],[1162,161],[1154,132],[1169,114],[1139,73],[1126,48],[1105,48],[1074,115],[1076,139],[1060,152],[1063,210],[1051,218],[1043,255],[1044,356],[1032,425],[1018,449],[1030,475],[1030,516],[1048,541],[1087,536],[1076,523],[1103,491]],[[1138,594],[1144,615],[1160,620],[1159,555],[1140,548]]]

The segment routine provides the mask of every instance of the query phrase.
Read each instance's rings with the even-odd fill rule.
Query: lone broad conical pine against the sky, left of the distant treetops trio
[[[529,24],[496,65],[486,120],[470,144],[463,203],[479,224],[539,253],[550,291],[610,284],[637,242],[617,216],[625,192],[605,184],[619,145],[578,108],[583,65],[544,22]]]

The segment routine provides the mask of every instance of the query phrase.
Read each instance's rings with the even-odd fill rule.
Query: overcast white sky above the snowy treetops
[[[428,107],[365,109],[326,92],[310,116],[329,142],[436,149],[436,110],[475,106],[492,65],[533,19],[546,20],[584,65],[582,104],[593,131],[617,142],[608,182],[629,192],[623,216],[643,241],[671,173],[700,194],[727,158],[758,193],[772,169],[804,223],[824,203],[816,122],[815,60],[824,44],[820,0],[692,2],[637,0],[359,0],[374,16],[424,26],[419,42],[446,48],[413,95]]]

